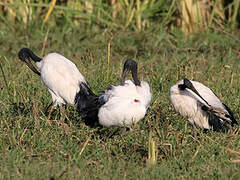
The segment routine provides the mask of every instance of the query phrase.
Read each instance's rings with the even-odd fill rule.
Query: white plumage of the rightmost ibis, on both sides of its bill
[[[212,92],[211,89],[206,87],[205,85],[197,82],[191,81],[195,89],[199,92],[199,94],[216,109],[220,109],[221,111],[229,114],[225,109],[222,102],[219,98]],[[209,125],[209,117],[205,111],[201,109],[201,104],[206,104],[199,96],[197,96],[194,92],[189,89],[185,89],[181,91],[178,88],[179,84],[183,84],[183,80],[177,82],[177,84],[173,85],[170,88],[170,100],[173,104],[175,110],[179,112],[182,116],[188,117],[189,121],[192,124],[196,124],[200,128],[204,129],[212,129]],[[200,102],[200,103],[199,103]]]

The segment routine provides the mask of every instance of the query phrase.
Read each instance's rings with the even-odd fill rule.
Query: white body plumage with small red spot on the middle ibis
[[[100,98],[106,103],[99,109],[99,123],[103,126],[125,126],[142,119],[151,101],[150,87],[142,81],[135,86],[126,80],[124,86],[113,86]]]

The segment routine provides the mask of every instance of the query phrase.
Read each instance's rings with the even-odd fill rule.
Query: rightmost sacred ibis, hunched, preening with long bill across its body
[[[189,118],[194,131],[195,125],[206,130],[225,131],[238,124],[230,108],[200,82],[180,80],[170,88],[170,100],[177,112]]]

